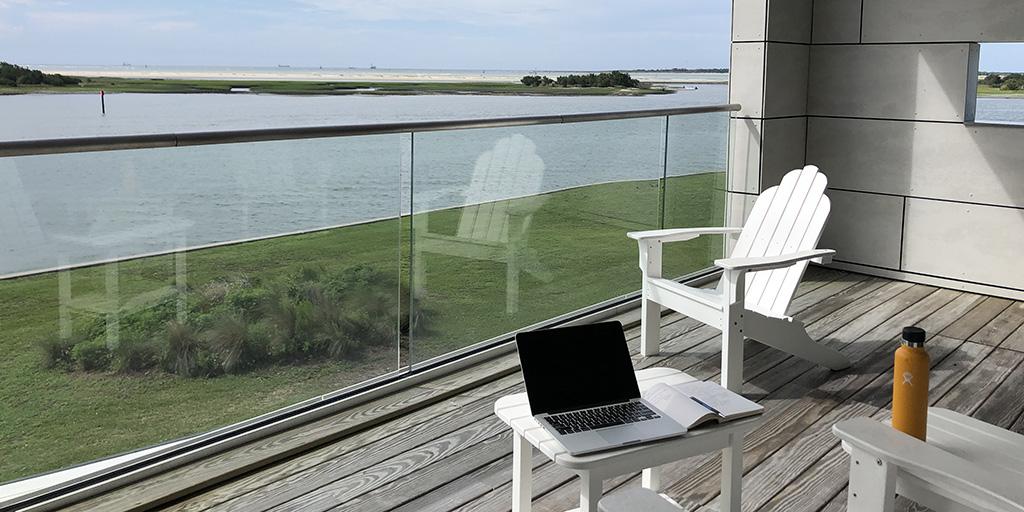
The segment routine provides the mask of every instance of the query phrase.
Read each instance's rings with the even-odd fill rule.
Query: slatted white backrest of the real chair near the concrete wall
[[[815,249],[830,208],[824,195],[828,180],[812,165],[782,177],[758,197],[732,257],[779,256]],[[786,268],[746,274],[745,307],[785,315],[807,261]]]

